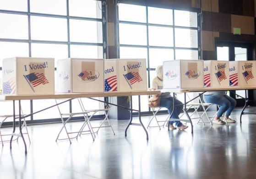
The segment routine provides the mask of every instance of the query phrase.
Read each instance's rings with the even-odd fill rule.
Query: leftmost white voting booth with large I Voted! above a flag
[[[4,59],[2,94],[54,94],[54,59],[33,57]]]

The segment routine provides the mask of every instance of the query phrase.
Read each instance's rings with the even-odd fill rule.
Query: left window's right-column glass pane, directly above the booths
[[[72,58],[103,59],[103,47],[90,45],[71,45],[70,55]]]

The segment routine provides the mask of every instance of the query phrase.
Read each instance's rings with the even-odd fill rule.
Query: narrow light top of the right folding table
[[[214,88],[181,88],[181,89],[163,89],[161,92],[209,92],[225,90],[245,90],[256,89],[256,86],[248,87],[214,87]]]

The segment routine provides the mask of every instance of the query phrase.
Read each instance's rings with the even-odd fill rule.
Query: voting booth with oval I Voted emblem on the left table
[[[57,61],[57,92],[103,92],[103,59]]]

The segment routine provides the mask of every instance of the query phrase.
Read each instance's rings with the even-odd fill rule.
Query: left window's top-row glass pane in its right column
[[[102,18],[101,1],[98,0],[69,0],[69,15]]]

